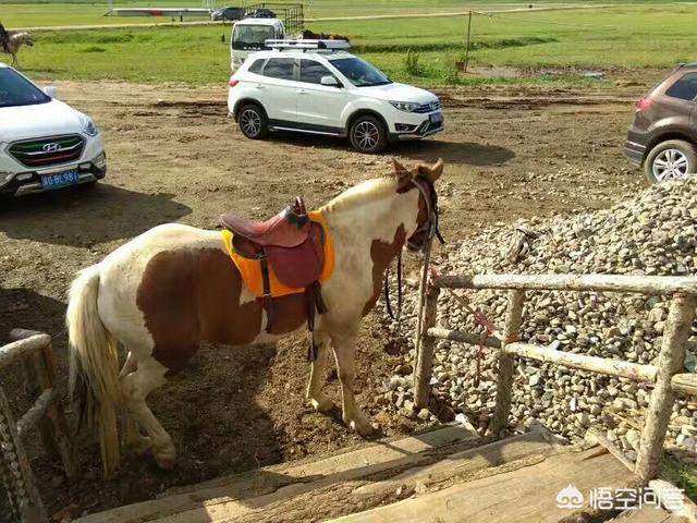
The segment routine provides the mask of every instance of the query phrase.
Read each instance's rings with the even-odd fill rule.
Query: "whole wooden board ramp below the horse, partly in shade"
[[[558,521],[570,511],[549,514],[570,483],[583,491],[633,478],[602,448],[575,450],[539,430],[487,443],[467,427],[448,426],[179,487],[77,521]]]

